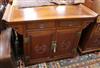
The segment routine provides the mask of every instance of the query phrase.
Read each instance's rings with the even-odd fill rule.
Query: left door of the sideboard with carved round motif
[[[31,59],[39,59],[50,57],[51,42],[54,32],[53,31],[32,31],[28,32],[29,41],[29,54]],[[26,52],[27,53],[27,52]]]

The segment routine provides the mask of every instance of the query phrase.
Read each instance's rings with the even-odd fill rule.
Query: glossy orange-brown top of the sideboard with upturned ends
[[[18,8],[7,5],[3,19],[8,22],[95,18],[97,14],[84,5],[56,5],[31,8]]]

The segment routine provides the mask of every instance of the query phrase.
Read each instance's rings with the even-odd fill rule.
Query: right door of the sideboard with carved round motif
[[[78,45],[80,34],[78,29],[57,30],[57,46],[55,56],[72,57]]]

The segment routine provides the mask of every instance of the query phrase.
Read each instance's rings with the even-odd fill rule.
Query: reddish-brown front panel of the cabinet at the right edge
[[[81,49],[85,52],[95,51],[100,49],[100,25],[95,24],[90,36],[85,43],[82,43]]]

